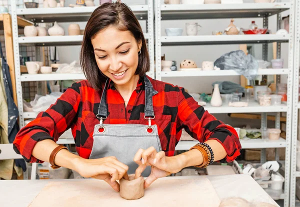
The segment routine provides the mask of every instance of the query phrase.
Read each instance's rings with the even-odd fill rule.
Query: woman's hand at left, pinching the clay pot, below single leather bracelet
[[[106,181],[115,191],[119,191],[119,183],[116,180],[124,177],[128,179],[128,166],[118,161],[115,156],[98,159],[79,158],[75,162],[75,171],[83,177],[91,177]]]

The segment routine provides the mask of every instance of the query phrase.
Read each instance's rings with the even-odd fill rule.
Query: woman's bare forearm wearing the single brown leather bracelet
[[[38,141],[32,150],[32,155],[35,156],[37,159],[49,162],[50,154],[53,151],[53,149],[57,146],[58,144],[56,144],[51,139]],[[54,163],[58,166],[76,170],[75,163],[80,158],[80,156],[73,154],[66,149],[61,149],[55,155]]]

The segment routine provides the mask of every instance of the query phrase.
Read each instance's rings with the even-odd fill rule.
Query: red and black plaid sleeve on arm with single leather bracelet
[[[34,120],[18,131],[13,141],[13,149],[27,162],[43,162],[32,155],[37,141],[52,139],[56,142],[70,128],[80,102],[79,84],[73,83],[54,104],[39,112]]]

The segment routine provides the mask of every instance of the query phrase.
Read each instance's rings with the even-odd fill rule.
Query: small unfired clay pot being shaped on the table
[[[144,194],[144,178],[142,176],[134,179],[134,174],[128,175],[129,180],[120,179],[120,196],[127,200],[141,198]]]

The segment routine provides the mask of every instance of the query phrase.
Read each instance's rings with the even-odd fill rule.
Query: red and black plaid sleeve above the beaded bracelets
[[[231,162],[240,155],[241,145],[235,129],[204,110],[184,88],[180,88],[178,95],[178,122],[179,127],[200,142],[214,139],[221,143],[227,155],[220,162]]]

